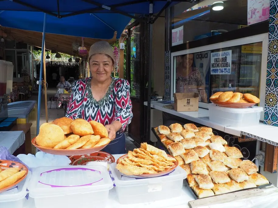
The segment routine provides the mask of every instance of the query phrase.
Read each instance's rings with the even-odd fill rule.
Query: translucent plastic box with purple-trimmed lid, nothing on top
[[[112,188],[102,165],[38,167],[28,185],[37,208],[105,207]]]

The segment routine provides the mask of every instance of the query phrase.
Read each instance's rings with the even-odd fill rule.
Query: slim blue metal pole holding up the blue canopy
[[[39,97],[38,97],[38,115],[37,115],[37,135],[40,131],[40,99],[41,99],[41,80],[42,80],[42,71],[44,68],[44,39],[45,39],[45,26],[46,26],[46,13],[44,13],[44,29],[42,33],[42,44],[41,44],[41,57],[40,57],[40,80],[38,81],[39,84]],[[45,78],[45,77],[44,77]]]

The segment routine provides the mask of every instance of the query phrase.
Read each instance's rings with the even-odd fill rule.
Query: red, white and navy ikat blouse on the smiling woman
[[[133,117],[129,89],[127,80],[112,77],[107,93],[96,101],[91,91],[91,77],[77,80],[72,87],[66,117],[94,120],[103,125],[120,121],[122,132]]]

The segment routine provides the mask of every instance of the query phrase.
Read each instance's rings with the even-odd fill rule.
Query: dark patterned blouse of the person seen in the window
[[[204,85],[198,68],[192,68],[188,76],[176,75],[176,92],[197,92],[197,87]],[[193,87],[194,86],[194,87]],[[193,88],[192,88],[193,87]]]

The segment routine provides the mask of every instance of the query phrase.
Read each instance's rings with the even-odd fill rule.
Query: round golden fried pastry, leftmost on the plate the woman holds
[[[37,145],[46,148],[54,148],[64,140],[64,131],[55,124],[45,124],[40,127],[40,133],[36,137]]]

